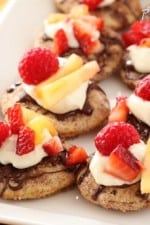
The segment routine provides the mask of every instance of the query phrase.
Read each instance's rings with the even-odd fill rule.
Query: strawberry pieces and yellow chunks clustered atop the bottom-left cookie
[[[42,144],[46,139],[46,131],[50,138],[57,135],[50,119],[22,107],[19,103],[8,109],[7,120],[10,135],[17,135],[16,154],[18,155],[34,151],[36,145]]]

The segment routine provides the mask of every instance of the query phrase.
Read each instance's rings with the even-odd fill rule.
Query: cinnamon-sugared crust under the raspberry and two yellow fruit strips
[[[5,115],[7,109],[16,102],[20,102],[20,99],[24,95],[25,92],[21,85],[17,86],[11,93],[4,93],[1,98],[1,109],[3,114]],[[27,97],[27,100],[22,98],[21,104],[40,114],[44,114],[45,116],[52,118],[59,135],[61,137],[70,138],[87,133],[102,126],[108,118],[110,111],[109,101],[105,93],[97,85],[88,92],[87,101],[93,110],[92,114],[86,115],[84,113],[77,112],[62,120],[58,119],[55,114],[52,114],[37,105],[35,101],[29,98],[29,96]]]

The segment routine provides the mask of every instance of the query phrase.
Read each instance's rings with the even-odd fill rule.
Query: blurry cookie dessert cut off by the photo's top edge
[[[139,0],[55,0],[57,8],[62,12],[70,12],[72,7],[86,4],[90,13],[103,18],[107,27],[122,30],[141,16]]]

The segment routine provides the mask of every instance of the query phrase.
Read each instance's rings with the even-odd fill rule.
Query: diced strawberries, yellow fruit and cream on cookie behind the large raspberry
[[[103,21],[89,15],[87,5],[73,7],[66,16],[60,13],[52,14],[48,18],[47,26],[55,26],[56,31],[52,35],[53,51],[57,55],[62,55],[69,47],[76,48],[78,45],[87,55],[98,53],[103,49],[99,40]]]

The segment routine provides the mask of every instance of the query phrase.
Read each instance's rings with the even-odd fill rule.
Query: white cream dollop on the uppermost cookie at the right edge
[[[131,45],[127,48],[132,65],[139,73],[150,72],[150,48]]]

